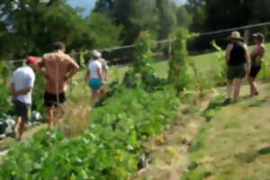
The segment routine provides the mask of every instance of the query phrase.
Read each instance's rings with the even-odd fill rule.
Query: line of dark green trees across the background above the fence
[[[72,8],[67,0],[2,0],[0,58],[38,56],[57,40],[67,43],[67,51],[83,51],[131,44],[141,30],[163,40],[177,26],[205,32],[263,23],[270,19],[269,6],[269,0],[188,0],[184,5],[173,0],[97,0],[83,17],[83,9]],[[213,38],[199,41],[209,44]],[[193,44],[200,48],[207,47]]]

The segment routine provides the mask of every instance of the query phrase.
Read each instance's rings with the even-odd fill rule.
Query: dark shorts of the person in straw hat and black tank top
[[[238,66],[229,66],[227,72],[227,78],[229,80],[235,78],[245,78],[247,73],[246,65],[238,65]]]

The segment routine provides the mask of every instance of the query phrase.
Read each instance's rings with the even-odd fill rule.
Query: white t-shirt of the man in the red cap
[[[21,91],[25,88],[33,88],[35,82],[35,73],[29,66],[19,67],[14,71],[11,83],[14,84],[14,90]],[[16,100],[31,104],[31,92],[28,94],[18,95]]]

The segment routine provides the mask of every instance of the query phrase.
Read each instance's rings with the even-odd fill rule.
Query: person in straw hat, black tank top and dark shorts
[[[227,72],[227,94],[228,97],[224,104],[228,105],[231,102],[231,93],[233,80],[236,80],[234,89],[234,102],[238,101],[242,79],[249,74],[249,53],[247,45],[242,42],[242,37],[238,31],[231,32],[229,36],[230,43],[226,49],[226,63],[228,65]]]

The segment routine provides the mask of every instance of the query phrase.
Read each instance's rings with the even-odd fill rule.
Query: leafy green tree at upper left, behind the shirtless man
[[[0,45],[5,45],[4,49],[8,50],[3,55],[6,58],[43,54],[50,51],[51,44],[59,40],[67,44],[67,51],[121,44],[121,25],[114,25],[108,14],[93,13],[84,18],[81,16],[82,9],[72,8],[67,0],[51,0],[49,3],[4,0],[3,12]],[[12,27],[12,31],[7,31],[7,27]],[[2,40],[11,40],[13,43],[4,44]]]

